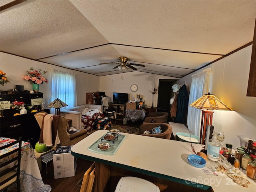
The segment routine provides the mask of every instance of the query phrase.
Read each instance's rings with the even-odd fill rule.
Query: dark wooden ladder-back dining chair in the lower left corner
[[[19,144],[16,148],[15,145]],[[0,177],[0,190],[6,190],[13,184],[17,184],[18,192],[20,192],[20,159],[21,159],[21,144],[22,137],[15,140],[7,145],[1,146],[0,150],[6,148],[15,148],[0,156],[1,161],[1,177]],[[16,155],[16,153],[18,154]],[[14,158],[13,158],[14,157]],[[6,160],[6,162],[4,162]],[[4,168],[6,166],[6,168]],[[4,168],[4,169],[3,169]],[[3,170],[2,170],[3,169]]]

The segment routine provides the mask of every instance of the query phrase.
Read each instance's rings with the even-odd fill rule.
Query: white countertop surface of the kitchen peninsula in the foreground
[[[112,166],[132,168],[133,171],[145,174],[155,173],[156,177],[198,188],[211,186],[214,192],[255,192],[256,183],[249,177],[246,178],[251,184],[245,188],[232,182],[226,175],[206,175],[201,168],[191,166],[187,157],[193,152],[188,142],[122,133],[126,138],[115,155],[89,151],[87,148],[106,132],[98,130],[75,144],[71,148],[72,155]],[[200,144],[193,145],[196,152],[202,149]]]

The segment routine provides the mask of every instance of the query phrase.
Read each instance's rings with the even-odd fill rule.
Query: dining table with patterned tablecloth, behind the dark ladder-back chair
[[[0,137],[0,146],[7,145],[15,141],[12,138]],[[18,144],[10,146],[6,149],[0,150],[0,156],[7,153],[8,151],[18,148]],[[29,142],[22,141],[21,150],[21,163],[20,163],[20,189],[21,192],[50,192],[52,190],[50,185],[44,184],[40,169],[36,160],[34,149]],[[1,158],[0,165],[6,162],[10,158],[18,156],[18,152],[14,156],[7,156]],[[16,163],[16,162],[13,162]],[[1,167],[1,171],[9,168],[11,165]]]

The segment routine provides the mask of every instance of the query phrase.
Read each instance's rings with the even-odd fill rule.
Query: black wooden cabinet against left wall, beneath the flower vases
[[[43,98],[43,93],[37,94],[1,94],[0,97],[4,100],[13,102],[16,100],[21,100],[25,104],[31,105],[31,99],[33,98]],[[37,108],[40,110],[40,106],[34,106],[34,109]],[[22,140],[28,141],[31,145],[35,146],[36,142],[39,141],[40,137],[40,127],[34,117],[34,114],[37,112],[30,112],[28,110],[27,114],[13,116],[17,112],[16,109],[7,109],[3,110],[4,116],[0,118],[0,136],[18,139],[22,136]],[[47,113],[50,113],[50,110],[44,110]]]

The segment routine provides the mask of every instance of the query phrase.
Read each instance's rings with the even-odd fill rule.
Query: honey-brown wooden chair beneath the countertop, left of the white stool
[[[94,172],[95,172],[95,162],[84,173],[84,178],[82,181],[80,192],[92,192],[92,187],[93,187],[94,178],[95,178]]]

